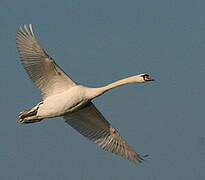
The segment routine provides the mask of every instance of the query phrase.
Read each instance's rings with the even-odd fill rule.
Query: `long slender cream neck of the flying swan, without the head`
[[[140,79],[138,80],[137,76],[132,76],[132,77],[128,77],[125,79],[115,81],[111,84],[108,84],[108,85],[100,87],[100,88],[91,88],[92,95],[90,94],[90,96],[91,96],[90,99],[98,97],[98,96],[102,95],[103,93],[105,93],[106,91],[109,91],[110,89],[116,88],[118,86],[122,86],[122,85],[129,84],[129,83],[137,83],[137,82],[141,82]]]

